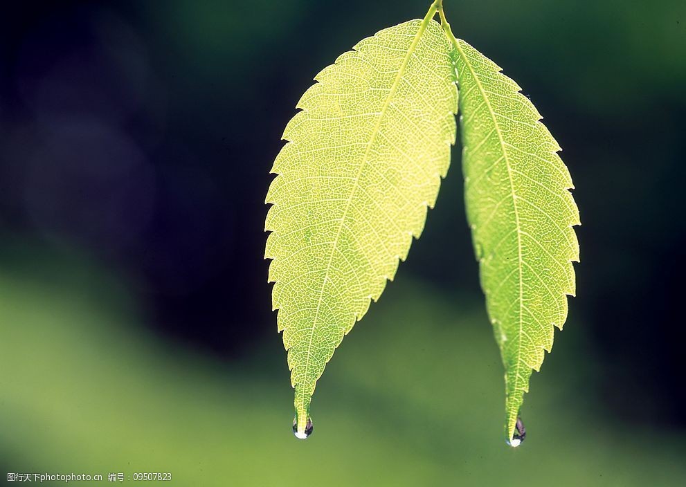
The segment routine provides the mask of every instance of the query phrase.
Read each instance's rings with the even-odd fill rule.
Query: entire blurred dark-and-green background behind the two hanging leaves
[[[262,259],[312,77],[430,1],[13,2],[0,15],[0,481],[686,484],[686,3],[445,0],[564,148],[577,297],[502,439],[460,149],[320,381],[308,441]]]

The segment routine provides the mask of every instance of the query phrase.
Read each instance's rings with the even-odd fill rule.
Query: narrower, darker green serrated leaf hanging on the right
[[[505,365],[512,442],[531,371],[540,369],[575,293],[579,212],[539,112],[494,62],[462,40],[454,45],[467,218]]]

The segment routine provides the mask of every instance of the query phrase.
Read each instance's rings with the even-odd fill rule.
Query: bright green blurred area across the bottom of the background
[[[315,432],[296,441],[276,334],[240,360],[208,357],[147,333],[122,284],[92,263],[39,259],[0,279],[12,325],[0,353],[0,454],[11,471],[170,471],[183,486],[686,478],[683,434],[597,415],[597,365],[574,320],[532,379],[531,437],[514,450],[501,439],[503,373],[485,313],[402,279],[342,344],[318,385]]]

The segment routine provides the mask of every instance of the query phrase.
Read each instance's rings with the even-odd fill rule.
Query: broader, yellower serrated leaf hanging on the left
[[[272,169],[265,257],[298,437],[316,381],[421,234],[450,163],[455,68],[434,13],[381,30],[321,71]]]

